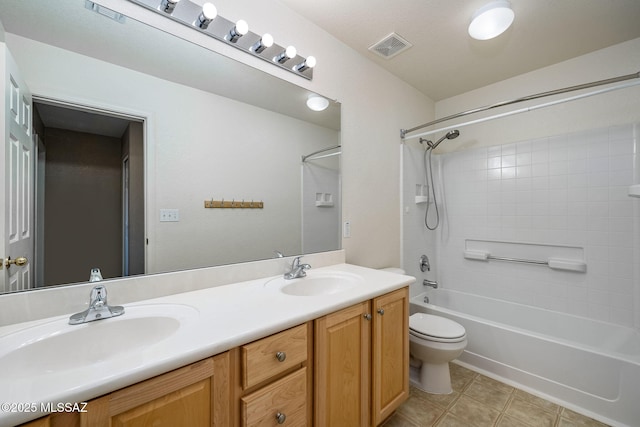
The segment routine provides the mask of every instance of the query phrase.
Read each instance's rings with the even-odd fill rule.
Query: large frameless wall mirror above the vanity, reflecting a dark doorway
[[[331,101],[327,110],[312,112],[304,104],[312,94],[307,89],[131,18],[118,18],[96,12],[85,0],[0,4],[4,41],[35,95],[44,162],[56,157],[47,143],[53,145],[51,135],[58,128],[94,132],[83,125],[100,120],[85,120],[83,114],[137,123],[143,141],[144,173],[137,184],[143,192],[127,197],[122,184],[123,194],[109,208],[123,230],[124,212],[132,210],[125,206],[140,206],[144,199],[141,219],[129,219],[142,221],[137,226],[143,235],[112,232],[116,243],[100,237],[102,225],[94,215],[106,210],[96,207],[106,192],[96,185],[94,197],[76,200],[74,207],[92,212],[84,217],[94,223],[95,234],[66,230],[59,233],[66,246],[46,248],[42,242],[53,240],[46,233],[57,227],[36,221],[42,244],[28,264],[36,285],[86,281],[92,267],[101,267],[107,279],[266,259],[276,251],[290,256],[339,249],[340,104]],[[51,110],[62,107],[75,127],[56,124],[59,115]],[[121,182],[134,175],[125,160],[129,157],[117,160]],[[40,172],[37,182],[55,175],[56,169],[45,165],[34,164]],[[36,190],[41,195],[37,212],[51,211],[52,199],[73,205],[62,199],[74,192],[57,195],[43,188]],[[214,208],[206,208],[208,202]],[[235,207],[215,207],[224,202]],[[85,235],[87,248],[112,248],[104,252],[116,253],[113,267],[105,267],[104,254],[76,245],[78,235]],[[127,239],[137,240],[132,245]],[[133,262],[127,273],[127,252],[136,245],[144,265]],[[63,261],[50,263],[68,276],[45,280],[47,256],[55,255]]]

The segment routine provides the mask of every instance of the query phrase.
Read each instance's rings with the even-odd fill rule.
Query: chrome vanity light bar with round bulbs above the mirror
[[[229,46],[265,60],[308,80],[313,79],[313,56],[304,58],[293,46],[283,47],[273,42],[269,34],[258,35],[248,30],[245,21],[229,21],[213,11],[212,3],[199,6],[190,0],[129,0],[160,15],[200,31]]]

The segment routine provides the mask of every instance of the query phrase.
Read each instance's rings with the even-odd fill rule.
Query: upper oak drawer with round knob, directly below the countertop
[[[307,360],[307,325],[242,346],[242,386],[260,384]]]

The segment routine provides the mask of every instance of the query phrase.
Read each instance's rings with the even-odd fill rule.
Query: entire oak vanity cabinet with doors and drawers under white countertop
[[[24,426],[378,426],[408,370],[403,288]]]

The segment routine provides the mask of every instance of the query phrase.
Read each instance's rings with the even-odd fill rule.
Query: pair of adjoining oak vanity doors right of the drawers
[[[315,321],[315,426],[377,426],[409,396],[403,288]]]

